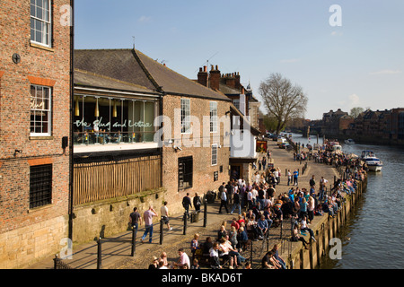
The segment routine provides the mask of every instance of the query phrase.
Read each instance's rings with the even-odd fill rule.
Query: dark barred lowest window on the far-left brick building
[[[30,168],[30,208],[52,203],[52,165]]]

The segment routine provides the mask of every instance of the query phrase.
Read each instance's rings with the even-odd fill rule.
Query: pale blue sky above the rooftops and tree
[[[341,8],[341,26],[329,18]],[[136,48],[196,79],[198,68],[259,83],[283,74],[309,98],[305,117],[330,109],[404,108],[404,1],[75,1],[75,48]],[[334,18],[332,18],[334,19]],[[262,108],[265,112],[265,109]]]

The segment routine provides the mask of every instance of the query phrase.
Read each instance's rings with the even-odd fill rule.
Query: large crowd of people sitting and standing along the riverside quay
[[[305,184],[309,188],[299,187],[299,170],[286,170],[284,179],[281,170],[272,165],[268,167],[266,158],[263,157],[258,162],[259,170],[248,182],[242,178],[232,179],[227,183],[223,182],[219,187],[218,212],[222,213],[225,210],[226,213],[238,214],[233,217],[230,227],[226,226],[227,222],[223,222],[217,231],[217,237],[207,237],[204,242],[200,241],[199,234],[195,234],[190,240],[189,255],[184,248],[180,248],[178,260],[168,263],[166,254],[162,253],[159,258],[153,257],[150,268],[198,269],[199,261],[204,260],[204,264],[207,261],[213,269],[222,269],[224,265],[228,265],[229,269],[241,267],[250,269],[250,258],[244,254],[248,251],[251,241],[264,239],[268,236],[269,230],[277,228],[284,220],[290,220],[292,223],[291,241],[301,241],[303,247],[308,248],[313,241],[316,241],[310,227],[314,216],[327,213],[331,217],[336,216],[342,209],[346,196],[356,193],[357,181],[364,180],[366,173],[361,161],[349,158],[343,152],[294,153],[294,160],[306,160],[309,156],[316,162],[343,167],[346,177],[339,178],[332,187],[326,178],[321,177],[317,182],[317,178],[312,175]],[[281,180],[288,191],[277,193],[277,186]],[[197,209],[200,205],[198,198],[194,197],[193,204]],[[183,206],[186,211],[192,206],[188,194],[184,197]],[[153,209],[145,213],[146,230],[142,240],[145,239],[147,232],[146,218],[153,217],[154,213]],[[166,218],[166,223],[169,224],[168,212]],[[170,229],[170,225],[168,228]],[[262,257],[262,268],[286,268],[285,261],[279,257],[277,249],[276,244]]]

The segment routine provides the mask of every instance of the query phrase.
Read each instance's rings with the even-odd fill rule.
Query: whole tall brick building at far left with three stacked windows
[[[56,254],[69,236],[70,5],[1,4],[0,268]]]

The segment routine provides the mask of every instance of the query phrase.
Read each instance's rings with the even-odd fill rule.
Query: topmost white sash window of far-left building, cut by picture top
[[[50,0],[31,0],[31,42],[50,47]]]

